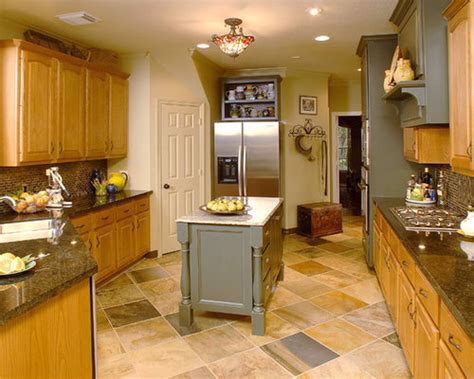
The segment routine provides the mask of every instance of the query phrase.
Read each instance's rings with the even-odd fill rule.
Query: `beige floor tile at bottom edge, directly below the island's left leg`
[[[129,353],[140,377],[166,378],[202,367],[204,362],[181,339]]]

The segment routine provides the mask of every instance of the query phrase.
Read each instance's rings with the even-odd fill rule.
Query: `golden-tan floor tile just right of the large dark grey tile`
[[[325,322],[305,330],[305,333],[340,355],[375,340],[374,336],[342,319]]]

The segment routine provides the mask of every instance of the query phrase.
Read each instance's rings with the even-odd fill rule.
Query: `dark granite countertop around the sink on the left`
[[[70,217],[150,193],[151,191],[123,191],[115,197],[103,199],[95,196],[74,199],[72,208],[65,209],[62,214],[56,214],[57,222],[64,224],[57,244],[46,239],[0,243],[0,254],[11,252],[20,257],[45,254],[44,258],[36,261],[36,267],[30,272],[8,278],[0,277],[0,325],[97,272],[97,263],[69,222]],[[33,215],[0,214],[0,224],[51,219],[54,216],[53,212],[46,211]]]

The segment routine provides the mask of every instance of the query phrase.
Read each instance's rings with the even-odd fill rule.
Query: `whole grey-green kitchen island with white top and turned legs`
[[[265,334],[265,305],[283,279],[281,198],[242,198],[245,215],[202,210],[177,222],[181,243],[180,325],[190,327],[193,310],[250,315],[252,333]]]

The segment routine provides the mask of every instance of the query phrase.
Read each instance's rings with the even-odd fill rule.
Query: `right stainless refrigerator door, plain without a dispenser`
[[[280,196],[278,122],[244,122],[242,184],[244,196]]]

